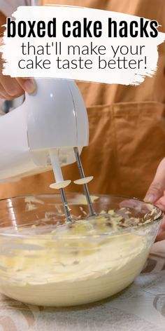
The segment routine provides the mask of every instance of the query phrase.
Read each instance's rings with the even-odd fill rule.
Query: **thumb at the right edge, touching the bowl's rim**
[[[145,201],[155,203],[161,196],[164,195],[165,190],[165,158],[159,163],[154,180],[145,195]]]

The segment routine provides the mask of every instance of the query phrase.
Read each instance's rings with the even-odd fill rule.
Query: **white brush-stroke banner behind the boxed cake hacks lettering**
[[[15,38],[8,38],[6,32],[3,36],[3,46],[1,46],[1,51],[3,53],[3,74],[10,75],[12,77],[36,77],[36,78],[60,78],[60,79],[75,79],[78,81],[94,81],[100,83],[119,83],[123,85],[138,85],[142,83],[145,79],[145,76],[152,77],[157,71],[157,61],[158,61],[158,46],[163,43],[165,40],[165,34],[162,32],[158,33],[156,38],[152,37],[128,37],[128,38],[108,38],[108,18],[112,18],[118,24],[121,20],[126,20],[128,25],[132,20],[136,20],[136,22],[140,22],[140,18],[133,15],[127,15],[124,13],[115,13],[110,11],[102,11],[98,9],[92,8],[81,8],[81,7],[73,7],[73,6],[20,6],[17,8],[17,11],[13,13],[13,18],[15,18],[15,22],[19,22],[20,20],[24,20],[27,22],[28,20],[39,20],[45,21],[45,25],[48,24],[52,18],[57,18],[57,37],[51,38],[45,36],[44,38],[39,37],[24,37],[20,38],[19,36],[15,36]],[[87,18],[87,20],[100,20],[102,22],[102,36],[100,38],[92,37],[92,38],[74,38],[73,36],[69,38],[65,38],[62,34],[62,22],[64,20],[69,20],[71,25],[73,21],[79,20],[82,22],[83,18]],[[144,19],[146,20],[146,19]],[[46,43],[48,45],[52,45],[50,47],[51,54],[50,55],[34,55],[33,52],[30,55],[22,55],[22,42],[25,45],[29,42],[30,45],[34,45],[36,50],[39,49],[38,46],[45,47]],[[77,63],[79,59],[79,55],[68,55],[67,49],[69,46],[80,46],[80,49],[84,49],[83,46],[88,46],[92,43],[93,46],[105,46],[106,47],[106,55],[101,55],[101,60],[105,60],[107,63],[109,60],[115,60],[116,66],[115,69],[110,69],[106,66],[105,69],[99,69],[99,56],[98,55],[81,55],[83,61],[89,59],[92,60],[92,69],[59,69],[57,67],[57,55],[55,54],[55,43],[62,43],[62,55],[60,55],[60,59],[62,62],[66,63],[64,60],[76,60]],[[58,44],[59,45],[59,44]],[[127,46],[129,48],[129,53],[125,55],[126,60],[129,62],[130,60],[142,60],[140,63],[140,67],[136,67],[135,69],[119,69],[117,67],[117,58],[120,60],[123,59],[124,55],[118,53],[113,58],[114,53],[113,49],[117,49],[119,46]],[[135,50],[136,47],[140,49],[141,46],[145,46],[142,48],[141,55],[131,55],[130,47],[132,50]],[[126,47],[122,47],[122,50],[126,50]],[[29,63],[30,60],[35,62],[37,56],[37,60],[50,60],[50,69],[41,69],[40,67],[33,69],[20,69],[18,67],[18,62],[20,60],[24,60],[21,62],[21,65],[25,65]],[[146,64],[145,59],[146,57]],[[101,62],[103,63],[106,62]],[[83,62],[84,63],[84,62]],[[22,66],[23,67],[23,66]],[[122,67],[122,62],[121,66]]]

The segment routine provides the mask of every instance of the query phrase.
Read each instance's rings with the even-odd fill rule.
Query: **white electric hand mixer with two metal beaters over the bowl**
[[[85,104],[76,83],[63,79],[36,79],[36,93],[25,94],[20,107],[0,117],[0,182],[19,180],[52,168],[66,219],[71,222],[61,167],[77,161],[90,215],[92,207],[80,161],[82,147],[89,142],[89,124]]]

